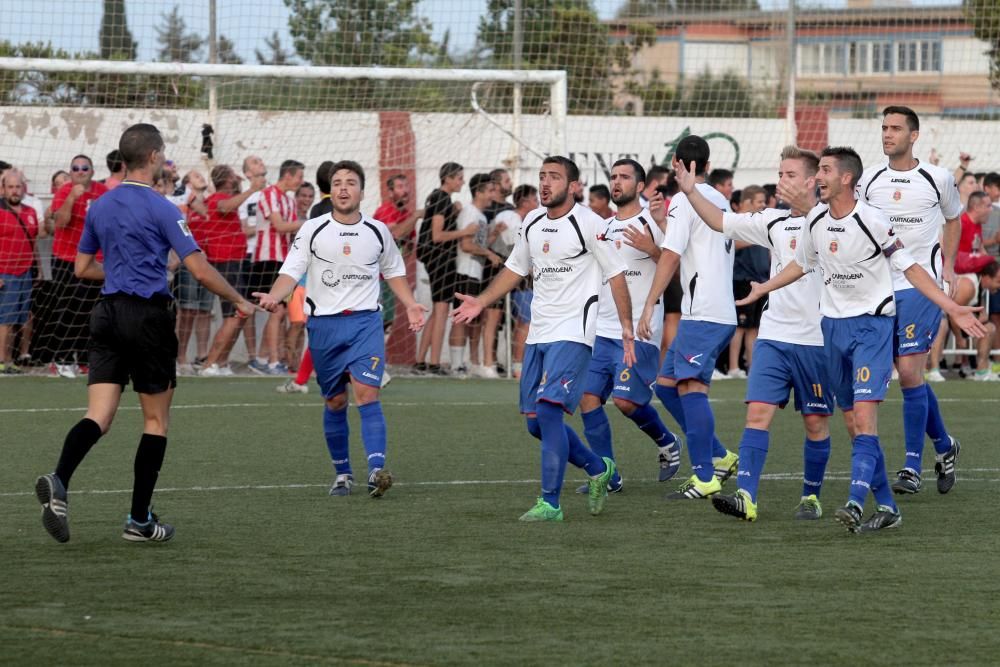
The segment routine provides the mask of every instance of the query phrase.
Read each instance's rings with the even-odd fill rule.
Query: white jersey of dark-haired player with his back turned
[[[705,183],[695,187],[723,212],[729,211],[729,202],[721,192]],[[661,247],[681,257],[681,319],[736,324],[733,241],[706,225],[683,192],[670,200],[667,235]]]

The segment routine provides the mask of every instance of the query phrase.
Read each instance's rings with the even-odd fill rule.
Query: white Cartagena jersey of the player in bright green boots
[[[601,283],[628,267],[603,243],[599,215],[576,204],[561,218],[545,208],[524,217],[506,267],[534,280],[529,345],[572,341],[593,347]]]

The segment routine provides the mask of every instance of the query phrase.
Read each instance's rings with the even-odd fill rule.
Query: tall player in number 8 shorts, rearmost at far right
[[[858,199],[885,214],[893,233],[938,286],[943,278],[953,287],[955,252],[962,230],[962,202],[955,179],[947,169],[913,157],[920,119],[912,109],[890,106],[882,115],[882,149],[889,160],[865,170],[858,181]],[[938,492],[948,493],[955,485],[960,445],[948,435],[937,397],[924,383],[927,354],[941,324],[941,309],[914,289],[902,272],[893,272],[892,283],[906,444],[906,460],[896,473],[892,490],[900,494],[920,491],[926,433],[934,443]]]

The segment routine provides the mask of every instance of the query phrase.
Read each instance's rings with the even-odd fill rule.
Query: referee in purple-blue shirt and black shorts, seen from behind
[[[160,523],[150,512],[167,448],[170,400],[177,386],[168,252],[173,249],[200,283],[233,302],[243,316],[254,311],[205,259],[184,214],[152,188],[162,175],[163,148],[163,137],[153,125],[140,123],[125,130],[118,144],[127,169],[125,180],[91,205],[77,249],[76,276],[103,280],[104,286],[90,317],[87,414],[66,435],[55,471],[35,483],[42,525],[59,542],[69,540],[70,477],[108,432],[129,380],[139,394],[144,423],[135,454],[132,507],[122,537],[165,542],[174,535],[173,526]],[[104,253],[103,264],[95,261],[98,251]]]

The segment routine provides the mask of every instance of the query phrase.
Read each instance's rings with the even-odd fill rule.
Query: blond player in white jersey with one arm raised
[[[778,182],[807,192],[802,208],[769,208],[759,213],[723,213],[694,187],[694,174],[683,164],[677,181],[692,208],[705,224],[726,238],[771,251],[771,275],[795,261],[795,249],[805,225],[805,214],[816,205],[815,179],[819,157],[796,146],[781,152]],[[754,363],[747,381],[747,419],[740,440],[740,468],[733,495],[712,496],[715,509],[745,521],[757,520],[757,489],[770,441],[769,430],[778,407],[795,390],[795,409],[802,414],[806,438],[802,500],[796,519],[819,519],[819,502],[826,464],[830,459],[830,402],[820,330],[819,301],[822,278],[810,271],[788,289],[771,295],[754,343]]]

